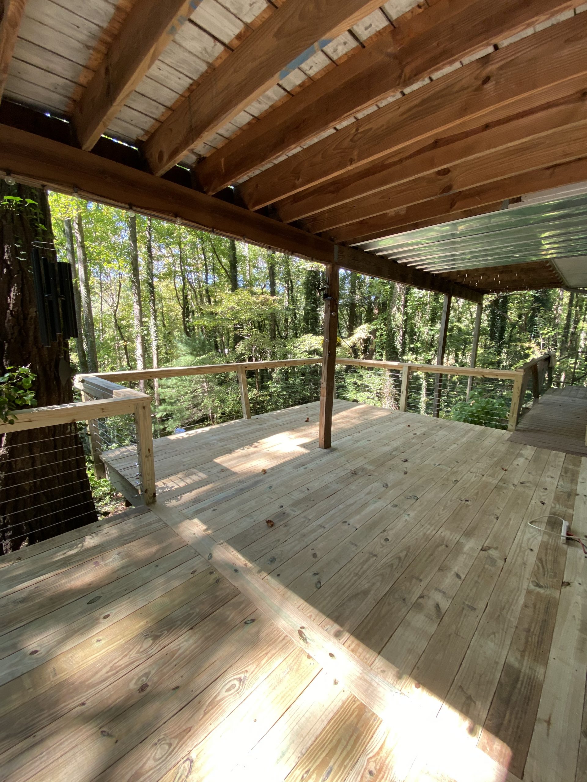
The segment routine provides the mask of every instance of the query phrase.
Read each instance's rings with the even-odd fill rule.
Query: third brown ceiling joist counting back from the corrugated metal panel
[[[497,122],[477,124],[476,127],[472,126],[478,120],[459,124],[452,128],[451,135],[435,137],[423,145],[420,142],[402,147],[374,163],[292,195],[276,204],[279,217],[283,222],[290,223],[324,213],[325,210],[332,212],[334,217],[338,213],[337,207],[349,205],[355,199],[366,199],[403,182],[464,161],[474,166],[475,159],[488,152],[497,152],[519,144],[524,139],[538,138],[587,121],[587,77],[580,77],[576,86],[578,90],[573,95],[560,101],[537,106],[529,112]],[[445,172],[445,181],[450,174],[448,170]],[[336,224],[331,223],[328,227]]]

